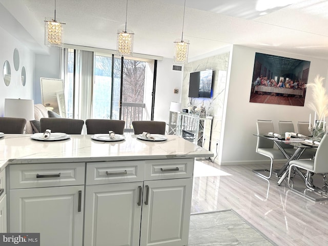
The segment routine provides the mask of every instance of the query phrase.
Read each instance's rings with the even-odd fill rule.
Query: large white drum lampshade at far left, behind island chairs
[[[34,119],[34,101],[32,99],[5,98],[5,117]]]

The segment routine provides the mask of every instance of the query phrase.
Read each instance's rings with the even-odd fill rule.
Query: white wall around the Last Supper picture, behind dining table
[[[312,100],[310,88],[306,92],[304,107],[249,102],[256,52],[311,61],[308,83],[311,83],[317,74],[327,78],[327,60],[234,46],[230,64],[230,79],[228,78],[227,110],[223,116],[225,124],[223,136],[221,135],[222,145],[219,150],[221,165],[263,163],[265,158],[255,153],[256,137],[252,135],[256,133],[257,119],[272,119],[275,129],[278,131],[279,120],[292,120],[297,129],[297,121],[308,121],[309,114],[313,115],[308,107]],[[326,88],[327,84],[325,83]]]

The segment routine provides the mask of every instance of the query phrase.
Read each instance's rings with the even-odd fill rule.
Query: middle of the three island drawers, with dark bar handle
[[[144,180],[145,161],[88,162],[86,185]]]

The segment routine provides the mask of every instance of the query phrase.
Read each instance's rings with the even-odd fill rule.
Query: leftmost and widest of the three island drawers
[[[10,165],[10,189],[84,185],[85,162]]]

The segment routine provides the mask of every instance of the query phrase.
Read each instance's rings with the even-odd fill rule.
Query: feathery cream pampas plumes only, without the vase
[[[306,85],[306,87],[311,87],[313,89],[313,101],[309,104],[309,108],[316,112],[320,120],[328,115],[328,96],[326,95],[326,89],[323,87],[323,79],[323,77],[317,75],[314,79],[314,83]]]

